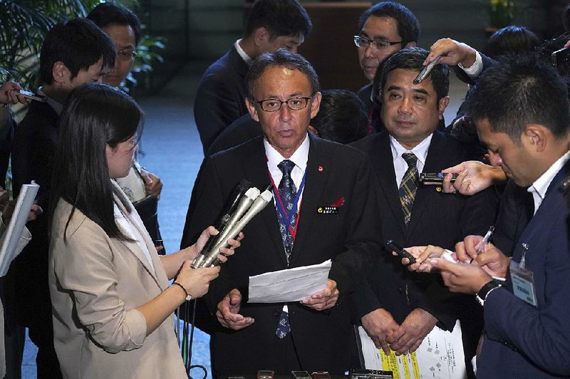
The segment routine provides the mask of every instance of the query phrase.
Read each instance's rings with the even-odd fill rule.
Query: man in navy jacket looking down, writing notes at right
[[[528,188],[534,215],[510,264],[492,245],[477,256],[474,246],[482,237],[457,246],[458,258],[475,257],[477,264],[437,259],[432,264],[442,270],[452,291],[477,294],[484,307],[478,377],[570,378],[566,84],[547,62],[516,56],[483,73],[468,105],[492,164],[501,166],[519,187]],[[526,276],[519,274],[521,266]],[[507,281],[499,287],[492,276]]]

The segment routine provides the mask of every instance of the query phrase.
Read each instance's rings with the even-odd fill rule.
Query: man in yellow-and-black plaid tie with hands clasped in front
[[[450,100],[449,70],[437,65],[422,83],[413,83],[426,56],[423,49],[405,48],[385,61],[380,88],[386,130],[354,145],[372,158],[383,239],[402,246],[439,244],[452,249],[469,234],[484,234],[494,220],[494,203],[488,190],[463,197],[418,182],[418,172],[440,172],[475,154],[436,130]],[[408,353],[436,324],[452,330],[461,306],[437,278],[410,273],[387,250],[377,254],[368,286],[356,294],[358,316],[386,353],[390,348]],[[474,323],[476,314],[469,326]],[[467,329],[464,325],[465,337]],[[466,355],[475,353],[474,329],[475,341],[466,344],[471,349]]]

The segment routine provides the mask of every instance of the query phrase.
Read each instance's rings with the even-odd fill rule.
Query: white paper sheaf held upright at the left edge
[[[28,214],[33,205],[33,200],[36,199],[39,188],[40,186],[34,182],[31,182],[29,185],[22,185],[20,194],[16,200],[16,207],[14,207],[12,218],[8,223],[8,227],[6,227],[4,235],[2,235],[0,239],[0,276],[6,275],[11,262],[19,253],[16,247],[18,246],[20,236],[28,221]]]

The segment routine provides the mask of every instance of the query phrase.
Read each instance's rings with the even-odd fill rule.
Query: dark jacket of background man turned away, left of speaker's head
[[[204,153],[227,125],[247,113],[244,78],[248,69],[232,46],[202,76],[194,100],[194,118]]]

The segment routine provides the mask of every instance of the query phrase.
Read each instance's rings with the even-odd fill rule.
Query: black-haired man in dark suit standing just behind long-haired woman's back
[[[58,137],[59,113],[73,88],[102,81],[115,63],[113,41],[92,21],[76,19],[53,26],[40,53],[45,102],[32,101],[24,120],[16,128],[12,150],[14,194],[21,185],[35,180],[40,185],[38,204],[45,213],[28,224],[31,242],[14,260],[9,271],[17,301],[18,321],[29,328],[38,346],[38,378],[61,377],[53,349],[51,301],[48,291],[48,218],[52,157]]]

